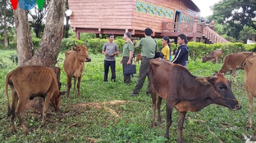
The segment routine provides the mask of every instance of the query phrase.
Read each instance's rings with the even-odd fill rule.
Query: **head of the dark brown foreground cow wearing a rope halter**
[[[231,83],[224,77],[223,73],[214,74],[211,77],[197,77],[197,81],[209,86],[205,92],[217,105],[228,107],[231,111],[241,109],[231,90]]]

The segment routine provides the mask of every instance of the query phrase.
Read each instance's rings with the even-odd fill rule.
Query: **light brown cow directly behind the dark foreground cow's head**
[[[224,73],[224,74],[229,72],[230,82],[232,81],[231,74],[233,74],[234,83],[235,83],[236,82],[236,79],[235,79],[236,70],[237,69],[243,69],[243,67],[241,67],[241,63],[245,59],[245,57],[248,56],[249,54],[251,54],[251,52],[243,51],[243,52],[240,52],[240,53],[233,53],[233,54],[226,55],[224,57],[224,63],[221,67],[220,72]],[[254,54],[252,54],[252,55],[254,55]]]

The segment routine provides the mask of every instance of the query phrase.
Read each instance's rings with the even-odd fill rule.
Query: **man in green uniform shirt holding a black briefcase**
[[[123,73],[124,73],[124,66],[132,64],[132,56],[134,51],[134,46],[131,41],[131,33],[126,32],[124,34],[124,40],[126,41],[123,47],[123,57],[120,63],[123,63]],[[124,75],[124,83],[128,84],[131,82],[131,75]]]

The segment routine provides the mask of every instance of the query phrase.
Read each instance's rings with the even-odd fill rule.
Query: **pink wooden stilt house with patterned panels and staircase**
[[[197,5],[191,0],[69,0],[71,27],[80,38],[81,32],[144,37],[144,29],[153,29],[153,37],[189,39],[206,43],[228,42],[213,30],[214,22],[198,22]]]

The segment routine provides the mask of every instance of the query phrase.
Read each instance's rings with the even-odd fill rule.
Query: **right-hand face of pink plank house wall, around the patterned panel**
[[[155,5],[161,5],[170,9],[174,9],[174,18],[175,18],[176,10],[181,11],[181,16],[182,14],[186,14],[194,17],[194,15],[196,14],[196,12],[189,9],[185,1],[182,1],[182,0],[181,1],[180,0],[141,0],[141,1],[148,2]],[[136,12],[136,6],[133,7],[132,11],[133,11],[132,12],[132,29],[135,29],[135,30],[144,30],[145,28],[151,28],[155,32],[162,32],[163,22],[174,22],[174,18],[170,19],[170,18],[164,18],[164,17],[157,17],[153,15],[141,14],[139,12]]]

